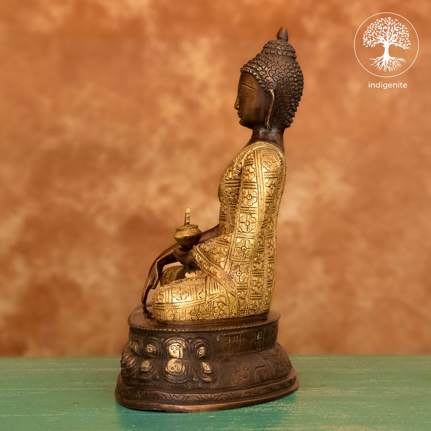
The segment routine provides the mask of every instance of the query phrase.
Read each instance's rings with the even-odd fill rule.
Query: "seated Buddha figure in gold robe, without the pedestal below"
[[[158,322],[212,321],[269,311],[286,178],[283,134],[302,91],[302,71],[282,27],[277,40],[240,69],[234,107],[240,125],[253,132],[222,173],[219,225],[184,241],[187,246],[170,247],[150,269],[141,300],[145,306],[150,289],[156,289],[153,314]],[[180,265],[163,270],[173,262]]]

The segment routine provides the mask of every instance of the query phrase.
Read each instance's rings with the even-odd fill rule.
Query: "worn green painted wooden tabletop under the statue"
[[[295,394],[209,413],[119,406],[119,356],[0,358],[0,430],[431,430],[431,356],[290,358]]]

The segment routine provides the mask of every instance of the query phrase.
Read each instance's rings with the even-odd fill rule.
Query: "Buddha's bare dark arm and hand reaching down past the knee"
[[[205,242],[211,238],[214,238],[219,235],[219,225],[214,226],[211,229],[203,232],[202,237],[200,238],[200,243]],[[142,290],[141,302],[145,305],[147,302],[148,293],[151,289],[155,289],[157,284],[159,284],[160,277],[162,276],[163,268],[165,265],[169,265],[169,263],[187,262],[190,258],[188,256],[188,252],[182,252],[180,250],[179,244],[174,244],[173,246],[166,249],[163,253],[161,253],[156,260],[151,265],[150,271],[148,272],[147,280],[145,281],[144,289]]]

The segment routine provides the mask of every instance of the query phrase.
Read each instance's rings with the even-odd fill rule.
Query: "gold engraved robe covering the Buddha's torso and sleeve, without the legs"
[[[220,236],[193,250],[198,264],[205,256],[230,275],[239,316],[269,310],[285,176],[284,155],[274,145],[257,142],[241,150],[220,180]]]

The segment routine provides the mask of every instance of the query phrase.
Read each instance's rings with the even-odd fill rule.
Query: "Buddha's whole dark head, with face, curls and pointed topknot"
[[[235,109],[240,124],[255,128],[272,124],[284,130],[290,127],[301,100],[303,75],[294,48],[287,43],[287,30],[281,27],[276,41],[269,41],[262,51],[240,70]]]

